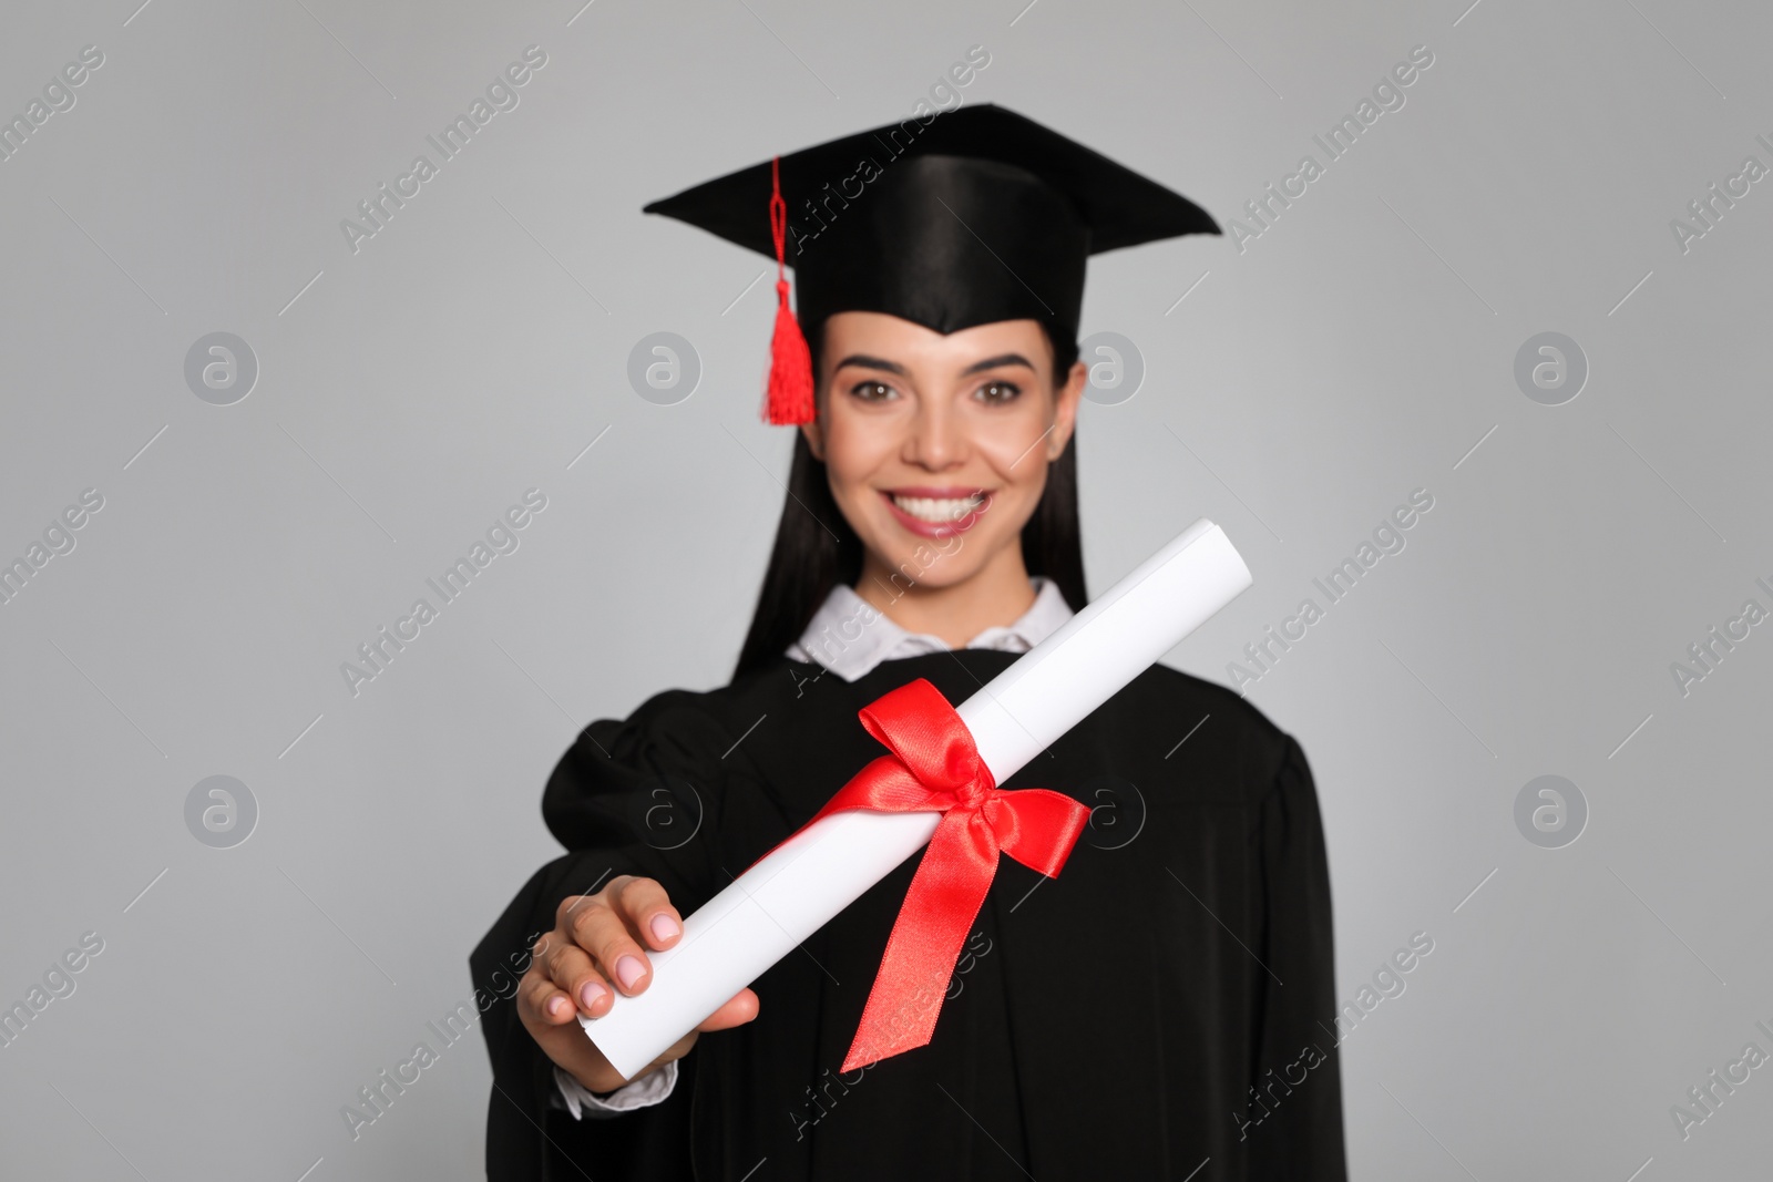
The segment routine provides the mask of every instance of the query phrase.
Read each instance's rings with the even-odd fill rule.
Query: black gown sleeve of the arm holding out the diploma
[[[658,879],[688,914],[723,883],[716,883],[707,838],[723,796],[720,753],[732,739],[695,698],[668,691],[626,721],[596,721],[578,735],[543,794],[543,817],[567,852],[523,884],[468,959],[477,998],[491,999],[480,1021],[493,1060],[486,1125],[491,1182],[690,1175],[693,1054],[681,1061],[677,1086],[665,1100],[606,1120],[573,1120],[555,1100],[553,1063],[518,1019],[514,989],[495,985],[521,976],[528,950],[553,930],[569,895],[635,874]]]

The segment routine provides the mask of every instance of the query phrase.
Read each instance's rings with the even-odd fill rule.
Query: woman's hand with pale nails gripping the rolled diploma
[[[560,902],[555,929],[537,941],[530,969],[518,985],[518,1017],[543,1053],[580,1081],[587,1092],[613,1092],[629,1083],[603,1058],[578,1015],[603,1017],[615,992],[645,992],[652,984],[647,948],[663,952],[683,937],[683,920],[665,888],[652,879],[621,874],[596,895]],[[695,1046],[704,1030],[727,1030],[757,1017],[757,994],[741,989],[707,1021],[652,1060],[635,1079]]]

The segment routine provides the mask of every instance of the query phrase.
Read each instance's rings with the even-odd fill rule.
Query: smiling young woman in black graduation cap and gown
[[[927,1046],[840,1070],[915,858],[633,1079],[585,1038],[684,914],[881,753],[858,709],[918,677],[961,702],[1083,606],[1083,259],[1216,232],[991,106],[649,209],[796,246],[812,349],[778,323],[771,418],[800,434],[732,682],[585,728],[543,797],[571,852],[475,950],[477,985],[521,971],[484,1019],[488,1175],[1342,1178],[1310,771],[1167,666],[1004,785],[1090,805],[1090,829],[1057,879],[1000,861]]]

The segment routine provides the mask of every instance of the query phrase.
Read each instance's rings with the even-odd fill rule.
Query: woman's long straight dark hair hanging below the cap
[[[821,331],[808,333],[814,349],[814,372]],[[1064,347],[1051,328],[1055,386],[1078,360],[1074,340]],[[1066,603],[1076,611],[1089,603],[1083,592],[1083,539],[1078,532],[1078,441],[1076,432],[1066,441],[1066,450],[1046,470],[1046,491],[1021,528],[1021,558],[1028,574],[1043,574],[1058,585]],[[824,463],[814,457],[807,436],[794,432],[794,461],[787,473],[787,496],[782,500],[782,519],[777,523],[775,548],[769,551],[769,569],[757,592],[757,611],[752,629],[739,650],[739,666],[732,675],[743,677],[778,659],[789,645],[800,640],[812,615],[839,583],[855,585],[862,576],[862,539],[849,526]]]

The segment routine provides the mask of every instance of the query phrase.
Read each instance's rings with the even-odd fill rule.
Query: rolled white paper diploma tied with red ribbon
[[[956,707],[991,778],[1009,780],[1250,583],[1223,530],[1206,517],[1183,530]],[[633,1079],[922,849],[940,820],[849,810],[807,828],[686,918],[676,948],[647,953],[645,992],[617,994],[608,1014],[580,1024]]]

